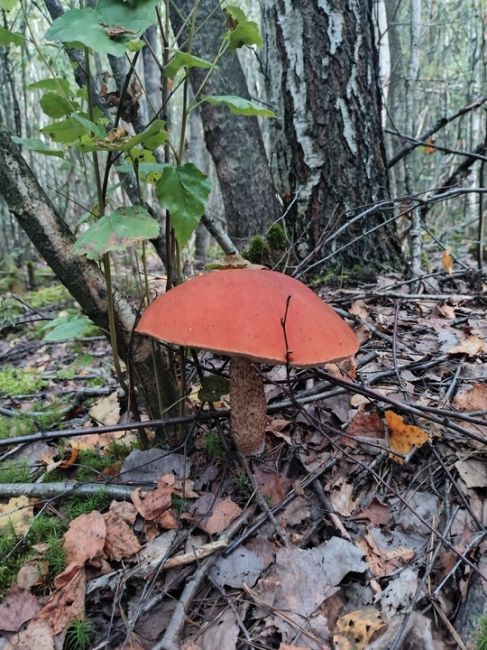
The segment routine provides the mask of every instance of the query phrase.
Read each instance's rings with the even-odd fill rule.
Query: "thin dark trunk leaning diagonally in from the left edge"
[[[94,262],[72,254],[73,233],[1,125],[0,192],[10,212],[60,282],[78,301],[82,311],[95,325],[108,330],[108,300],[103,274]],[[133,334],[135,312],[118,291],[114,292],[114,309],[120,355],[130,363],[149,412],[157,418],[160,411],[150,341]],[[177,399],[176,387],[162,353],[158,355],[157,363],[161,368],[163,405],[169,407]]]

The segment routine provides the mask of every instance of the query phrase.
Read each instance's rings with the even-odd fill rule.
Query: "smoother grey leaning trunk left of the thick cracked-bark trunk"
[[[171,5],[172,6],[172,5]],[[181,14],[188,16],[194,0],[179,0],[171,8],[173,30],[181,49],[187,44]],[[221,45],[225,16],[218,0],[201,0],[196,18],[192,53],[213,61]],[[193,68],[191,84],[196,92],[207,70]],[[247,83],[236,52],[228,51],[218,62],[204,87],[205,95],[238,95],[249,99]],[[240,117],[228,108],[202,104],[206,146],[215,163],[230,236],[237,245],[252,234],[263,234],[280,215],[262,134],[255,117]]]

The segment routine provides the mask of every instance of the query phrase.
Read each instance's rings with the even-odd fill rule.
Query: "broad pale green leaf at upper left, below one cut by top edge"
[[[124,37],[111,39],[101,22],[101,16],[89,7],[68,9],[52,23],[45,33],[45,38],[48,41],[81,43],[101,54],[122,56],[127,49],[126,42],[129,39]]]

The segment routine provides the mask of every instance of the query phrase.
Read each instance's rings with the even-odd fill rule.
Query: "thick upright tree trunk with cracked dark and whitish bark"
[[[397,260],[387,216],[369,213],[388,197],[372,0],[266,0],[267,78],[275,126],[276,174],[296,198],[297,234],[319,242],[317,256],[346,266]],[[271,125],[272,126],[272,125]]]

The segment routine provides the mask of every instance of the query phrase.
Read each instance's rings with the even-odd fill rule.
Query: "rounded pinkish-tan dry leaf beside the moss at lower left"
[[[98,554],[105,545],[107,527],[103,515],[96,510],[73,519],[64,534],[64,550],[68,564],[84,564]]]

